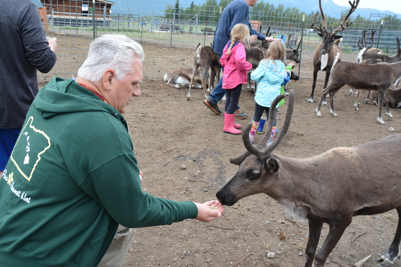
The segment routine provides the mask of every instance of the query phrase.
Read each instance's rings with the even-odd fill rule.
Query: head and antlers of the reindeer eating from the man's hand
[[[276,107],[284,97],[284,94],[279,95],[273,101],[271,107]],[[239,168],[233,178],[216,193],[217,198],[222,204],[231,206],[243,197],[269,192],[269,184],[275,182],[275,178],[277,178],[276,174],[280,169],[280,162],[271,153],[280,144],[290,126],[294,110],[294,99],[295,92],[294,90],[290,90],[284,125],[276,140],[268,148],[265,147],[265,143],[272,131],[274,108],[270,109],[267,130],[258,145],[252,144],[249,140],[249,131],[252,127],[252,122],[248,123],[245,127],[242,132],[242,139],[247,151],[236,158],[230,159],[230,162],[239,165]],[[274,197],[274,194],[272,192],[272,197]]]

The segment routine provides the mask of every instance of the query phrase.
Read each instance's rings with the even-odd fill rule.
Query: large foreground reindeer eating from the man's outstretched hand
[[[284,95],[273,101],[274,107]],[[306,159],[272,154],[290,125],[294,91],[290,91],[284,126],[274,142],[265,148],[273,126],[271,109],[266,134],[256,146],[249,140],[252,123],[243,130],[244,154],[230,159],[239,165],[236,174],[217,193],[224,205],[265,193],[277,200],[289,214],[309,223],[305,267],[323,267],[345,228],[356,215],[372,215],[396,209],[401,217],[401,135],[390,135],[353,147],[337,147]],[[361,165],[361,162],[363,164]],[[316,253],[323,223],[330,230]],[[401,221],[398,220],[389,249],[376,261],[392,265],[399,255]]]

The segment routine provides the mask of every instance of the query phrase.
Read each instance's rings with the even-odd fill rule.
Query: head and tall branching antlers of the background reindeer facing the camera
[[[353,3],[351,3],[351,1],[349,1],[349,5],[351,5],[351,8],[350,8],[348,14],[347,14],[347,16],[345,16],[344,19],[341,18],[340,26],[337,29],[335,29],[334,31],[333,31],[333,29],[331,27],[331,24],[329,25],[329,29],[327,28],[326,18],[324,17],[324,13],[323,13],[322,3],[321,2],[322,1],[319,0],[319,8],[320,8],[320,13],[322,15],[322,22],[320,23],[320,27],[317,27],[315,25],[315,21],[317,19],[317,15],[319,14],[319,12],[316,12],[315,17],[312,20],[312,24],[311,24],[310,28],[317,30],[318,31],[317,35],[323,38],[323,45],[321,46],[320,52],[323,55],[325,55],[333,47],[334,41],[336,39],[342,38],[342,36],[336,35],[336,33],[344,31],[345,29],[347,29],[352,24],[352,22],[347,22],[347,20],[348,20],[349,16],[356,10],[356,7],[359,4],[359,0],[356,0],[356,4],[355,4],[355,0],[354,0]]]

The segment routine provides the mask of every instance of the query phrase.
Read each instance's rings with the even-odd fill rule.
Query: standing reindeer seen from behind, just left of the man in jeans
[[[192,67],[192,78],[189,84],[189,91],[186,95],[186,100],[191,99],[191,89],[193,85],[193,80],[195,78],[195,73],[200,67],[202,69],[202,76],[200,81],[202,82],[202,87],[204,88],[205,98],[208,98],[208,94],[213,92],[215,86],[215,77],[220,80],[220,71],[222,70],[222,65],[220,64],[219,55],[213,51],[210,46],[200,46],[196,47],[196,54],[193,57],[193,67]],[[210,71],[210,86],[206,86],[207,77]],[[206,94],[206,89],[208,89],[208,94]]]

